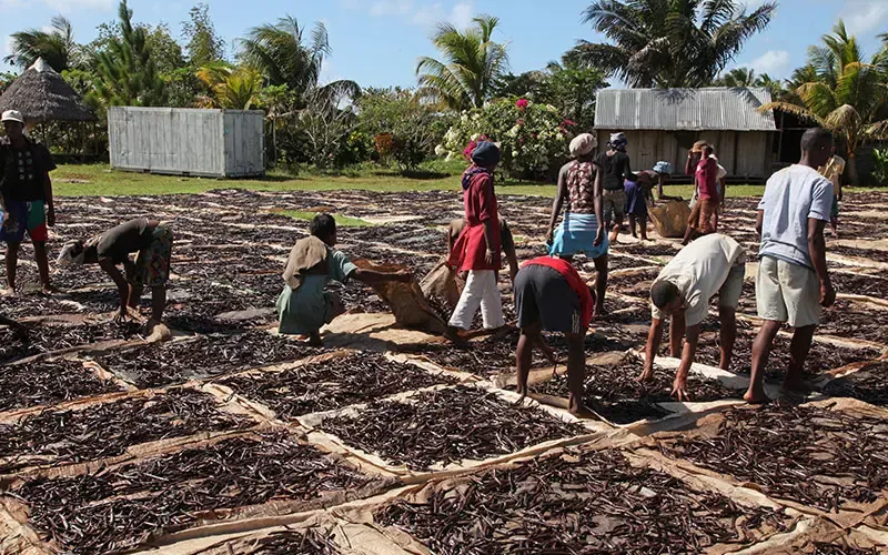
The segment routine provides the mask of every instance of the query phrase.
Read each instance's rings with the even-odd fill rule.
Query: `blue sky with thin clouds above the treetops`
[[[746,0],[749,8],[763,0]],[[133,20],[165,22],[179,39],[182,21],[196,0],[130,0]],[[421,56],[436,56],[430,36],[437,21],[457,27],[490,13],[501,19],[495,39],[508,44],[514,73],[541,69],[558,60],[577,40],[598,41],[582,12],[588,0],[205,0],[218,33],[233,52],[239,37],[250,28],[283,16],[301,24],[322,21],[330,34],[332,54],[322,80],[351,79],[362,87],[413,87]],[[731,67],[750,67],[757,73],[787,78],[803,65],[807,48],[844,19],[867,56],[878,47],[876,34],[888,32],[888,0],[779,0],[777,14],[763,33],[750,39]],[[249,9],[245,8],[249,6]],[[71,20],[78,42],[89,42],[95,28],[117,17],[115,0],[0,0],[3,56],[9,36],[29,28],[47,28],[56,14]],[[0,69],[12,70],[0,62]],[[618,83],[615,83],[618,85]]]

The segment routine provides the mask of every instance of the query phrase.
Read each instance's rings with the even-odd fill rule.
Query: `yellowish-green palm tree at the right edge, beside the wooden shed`
[[[795,98],[759,110],[781,110],[831,130],[845,145],[848,173],[857,183],[855,153],[867,141],[888,138],[888,81],[884,52],[862,61],[855,37],[839,20],[824,46],[810,47],[808,64],[790,81]]]

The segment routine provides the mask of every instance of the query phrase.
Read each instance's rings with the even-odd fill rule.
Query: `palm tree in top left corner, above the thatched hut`
[[[10,54],[3,60],[24,69],[42,58],[59,73],[77,65],[80,46],[74,42],[71,22],[62,16],[56,16],[51,27],[49,31],[29,29],[12,33]]]

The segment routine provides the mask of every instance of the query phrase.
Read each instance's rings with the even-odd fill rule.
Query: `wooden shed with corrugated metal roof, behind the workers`
[[[768,102],[761,88],[605,89],[596,100],[595,130],[603,147],[610,133],[626,133],[633,170],[664,160],[684,173],[688,149],[705,140],[728,179],[758,181],[775,162],[774,114],[757,110]]]

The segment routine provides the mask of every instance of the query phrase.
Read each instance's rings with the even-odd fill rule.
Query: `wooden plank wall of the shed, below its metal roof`
[[[597,130],[598,150],[606,148],[612,130]],[[633,171],[648,170],[660,160],[672,162],[678,174],[685,171],[687,151],[698,140],[716,149],[729,178],[767,179],[771,174],[774,133],[767,131],[625,131]]]

